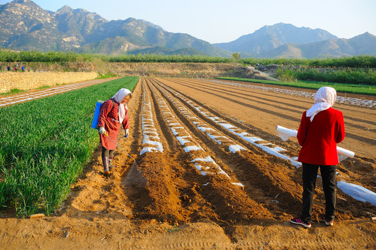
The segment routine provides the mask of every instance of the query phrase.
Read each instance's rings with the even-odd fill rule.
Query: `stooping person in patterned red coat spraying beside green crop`
[[[126,103],[128,103],[131,97],[131,91],[122,88],[113,98],[105,101],[101,106],[98,125],[102,146],[101,157],[104,166],[104,174],[106,175],[110,174],[110,167],[116,167],[111,163],[113,153],[116,149],[116,144],[113,141],[117,141],[117,135],[120,132],[121,125],[125,129],[124,137],[127,138],[129,135],[128,107]]]

